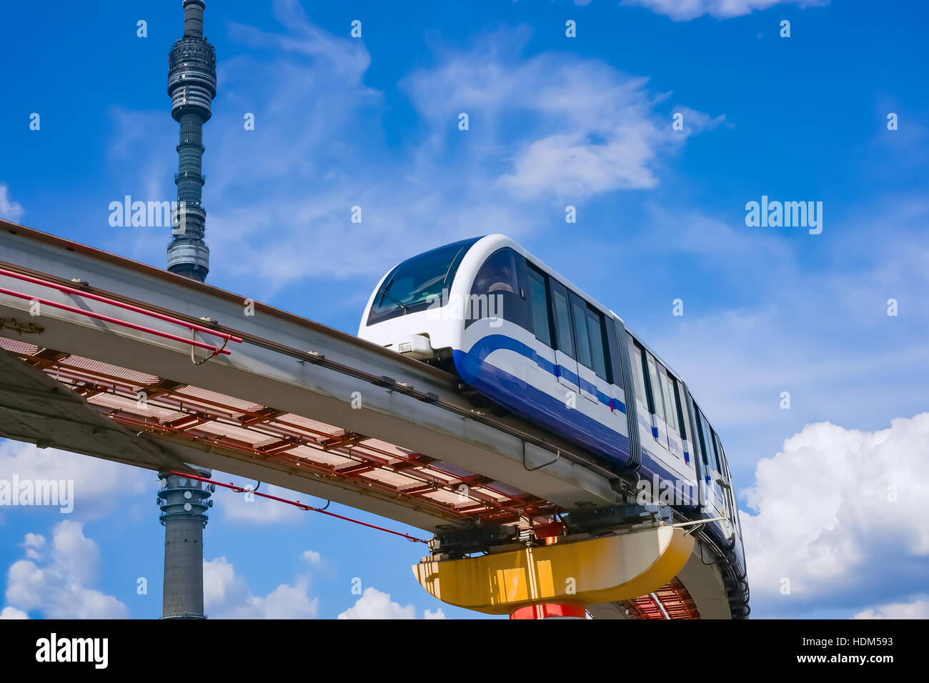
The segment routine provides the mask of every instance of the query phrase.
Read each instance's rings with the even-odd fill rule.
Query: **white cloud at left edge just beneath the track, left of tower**
[[[106,514],[118,502],[119,496],[137,495],[156,488],[156,478],[148,470],[55,448],[36,448],[31,443],[0,440],[0,479],[11,479],[14,474],[20,481],[73,481],[72,514],[80,515],[82,519]]]

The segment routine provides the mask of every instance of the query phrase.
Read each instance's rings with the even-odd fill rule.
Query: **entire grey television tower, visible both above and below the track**
[[[210,271],[210,250],[203,241],[203,124],[216,97],[216,51],[203,37],[203,0],[184,0],[184,37],[168,57],[171,115],[180,124],[177,143],[177,210],[168,245],[168,270],[203,282]],[[203,477],[208,469],[195,467]],[[216,487],[196,479],[160,472],[158,505],[164,524],[162,619],[205,619],[203,611],[203,528],[207,500]]]

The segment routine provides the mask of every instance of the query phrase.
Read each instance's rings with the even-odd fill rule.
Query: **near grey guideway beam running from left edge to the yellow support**
[[[32,339],[43,347],[105,360],[281,411],[308,414],[348,432],[405,446],[484,477],[512,483],[564,509],[620,502],[606,474],[570,457],[569,443],[546,437],[543,445],[537,445],[538,440],[530,436],[532,427],[525,423],[506,417],[491,421],[478,414],[457,392],[451,375],[353,335],[161,269],[2,222],[0,269],[44,275],[49,281],[244,339],[241,344],[226,346],[225,350],[231,350],[229,355],[220,353],[194,364],[190,361],[191,339],[211,348],[221,347],[223,340],[187,331],[188,341],[177,341],[166,336],[178,334],[176,324],[132,309],[120,309],[120,319],[149,332],[88,319],[87,313],[113,317],[115,312],[103,301],[0,274],[0,288],[85,311],[43,306],[41,316],[31,317],[33,305],[28,298],[0,294],[0,318],[40,326],[41,334]],[[151,330],[160,335],[152,335]],[[196,358],[199,361],[212,353],[198,348]],[[331,369],[329,363],[339,369]],[[360,399],[357,409],[352,408],[355,397]],[[556,457],[558,453],[560,457]],[[243,477],[260,472],[254,466],[224,465],[224,458],[214,452],[188,454],[193,459],[185,458],[186,462],[225,468]],[[320,486],[311,485],[311,479],[302,485],[293,479],[281,485],[338,500],[338,493],[327,495]],[[346,504],[369,509],[359,498],[349,496]],[[414,511],[404,514],[393,507],[377,506],[372,511],[433,532],[449,523]]]

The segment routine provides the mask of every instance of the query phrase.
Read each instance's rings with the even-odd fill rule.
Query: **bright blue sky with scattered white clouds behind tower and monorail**
[[[112,228],[108,206],[176,196],[180,3],[52,6],[13,4],[0,23],[15,65],[0,217],[164,266],[167,231]],[[755,615],[929,616],[927,18],[855,0],[208,2],[209,282],[354,333],[400,259],[509,234],[687,379],[737,482]],[[762,195],[822,202],[821,234],[747,227]],[[68,516],[0,509],[0,609],[158,616],[154,476],[0,444],[0,476],[19,466],[64,468],[86,493]],[[438,610],[412,580],[418,548],[261,510],[216,494],[208,611]],[[359,605],[355,577],[372,589]]]

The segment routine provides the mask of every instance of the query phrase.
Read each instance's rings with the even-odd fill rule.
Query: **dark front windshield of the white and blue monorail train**
[[[417,310],[425,310],[438,297],[446,302],[458,265],[471,245],[480,238],[440,246],[438,249],[413,256],[390,271],[384,284],[374,295],[368,324],[386,321]],[[445,295],[443,296],[443,291]]]

